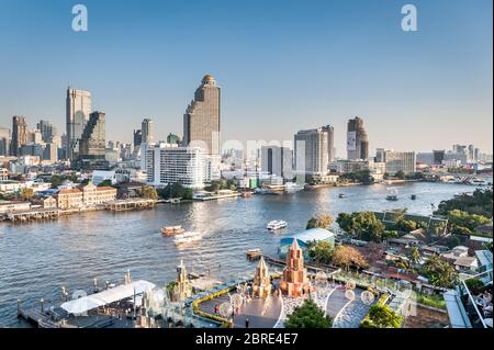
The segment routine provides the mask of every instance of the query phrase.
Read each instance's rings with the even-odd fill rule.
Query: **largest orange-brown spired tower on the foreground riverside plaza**
[[[289,297],[301,297],[311,291],[311,282],[304,269],[304,256],[296,239],[293,239],[287,253],[287,267],[281,276],[280,289]]]

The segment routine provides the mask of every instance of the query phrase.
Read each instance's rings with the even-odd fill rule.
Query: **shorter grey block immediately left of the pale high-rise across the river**
[[[260,158],[262,172],[283,179],[293,178],[293,156],[290,148],[262,146]]]

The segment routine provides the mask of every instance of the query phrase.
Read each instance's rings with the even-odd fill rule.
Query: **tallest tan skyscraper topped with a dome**
[[[205,148],[206,155],[220,158],[220,121],[221,88],[206,75],[183,115],[183,145]]]

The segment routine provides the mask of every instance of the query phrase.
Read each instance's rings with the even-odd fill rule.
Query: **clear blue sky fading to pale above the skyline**
[[[71,30],[83,3],[89,31]],[[403,32],[401,9],[418,9]],[[92,92],[106,138],[182,134],[202,76],[223,88],[222,138],[293,139],[361,116],[371,149],[493,145],[492,0],[0,0],[0,125],[65,129],[68,84]]]

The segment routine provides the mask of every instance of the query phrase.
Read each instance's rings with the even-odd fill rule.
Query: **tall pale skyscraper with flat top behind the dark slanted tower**
[[[67,126],[67,157],[77,159],[79,138],[91,113],[91,93],[89,91],[67,89],[66,126]]]

